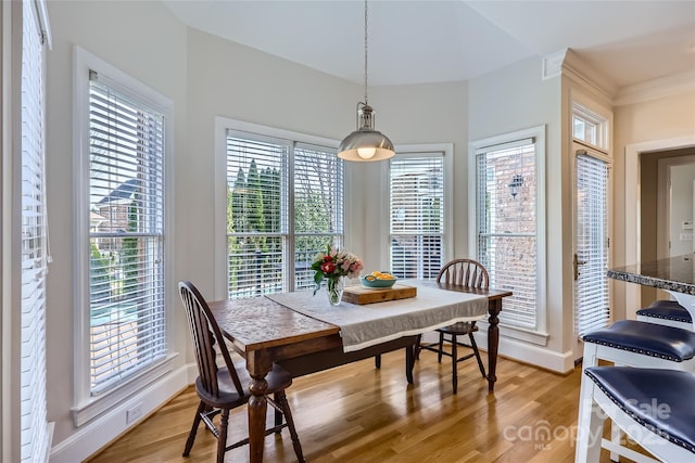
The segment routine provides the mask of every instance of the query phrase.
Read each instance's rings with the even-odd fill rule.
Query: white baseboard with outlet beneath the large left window
[[[123,401],[102,416],[77,429],[67,439],[51,449],[51,463],[81,462],[113,439],[149,416],[181,389],[192,384],[198,375],[195,364],[184,365],[152,383],[139,394]],[[127,410],[139,406],[142,417],[126,423]]]

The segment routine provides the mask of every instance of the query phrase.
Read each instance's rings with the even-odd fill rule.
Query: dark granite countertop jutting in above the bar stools
[[[695,255],[610,269],[608,278],[695,295]]]

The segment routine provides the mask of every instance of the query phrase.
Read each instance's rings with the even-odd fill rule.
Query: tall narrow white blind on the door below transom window
[[[574,332],[602,329],[610,319],[608,294],[608,166],[587,154],[577,156],[577,259]]]

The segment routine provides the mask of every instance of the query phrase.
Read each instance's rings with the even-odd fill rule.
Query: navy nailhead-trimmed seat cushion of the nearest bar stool
[[[584,373],[637,423],[695,453],[692,373],[630,366],[591,366]]]

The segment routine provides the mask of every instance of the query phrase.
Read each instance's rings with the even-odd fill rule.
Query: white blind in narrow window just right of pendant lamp
[[[390,160],[390,262],[399,278],[437,278],[444,259],[444,154]]]

